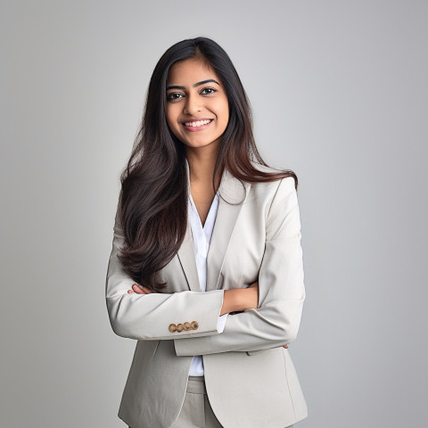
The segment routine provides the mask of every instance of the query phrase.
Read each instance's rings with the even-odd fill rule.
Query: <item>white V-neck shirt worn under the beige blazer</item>
[[[198,270],[199,286],[201,292],[207,289],[207,255],[210,249],[210,241],[214,223],[216,222],[218,211],[218,193],[211,202],[210,211],[208,212],[205,224],[202,226],[196,205],[193,202],[192,195],[189,193],[189,220],[192,228],[193,251]],[[228,314],[218,317],[217,331],[222,333],[226,325]],[[194,356],[192,366],[190,366],[189,376],[203,376],[202,355]]]

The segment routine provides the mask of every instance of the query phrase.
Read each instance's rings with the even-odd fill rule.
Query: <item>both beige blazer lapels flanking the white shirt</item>
[[[185,161],[185,169],[188,194],[190,193],[190,170],[187,161]],[[207,292],[218,288],[227,248],[234,233],[236,220],[250,188],[251,185],[249,183],[241,183],[225,169],[218,189],[218,212],[207,257]],[[185,272],[189,289],[193,292],[200,292],[198,270],[194,260],[192,228],[188,216],[185,239],[177,251],[177,256]]]

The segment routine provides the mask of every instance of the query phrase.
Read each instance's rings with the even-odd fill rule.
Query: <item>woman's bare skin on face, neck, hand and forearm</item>
[[[199,60],[177,62],[169,70],[167,82],[167,122],[171,132],[185,144],[190,165],[190,187],[202,226],[205,223],[211,202],[217,192],[220,177],[215,177],[216,189],[212,187],[214,165],[229,119],[229,104],[226,91],[217,73]],[[210,119],[201,127],[189,127],[189,122]],[[187,126],[185,125],[187,123]],[[133,284],[128,293],[150,294],[152,290]],[[257,309],[259,283],[248,288],[226,290],[220,315],[229,312]],[[284,348],[288,348],[284,345]]]

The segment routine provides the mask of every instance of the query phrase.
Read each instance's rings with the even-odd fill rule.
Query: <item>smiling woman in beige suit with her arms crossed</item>
[[[212,40],[153,71],[106,282],[136,339],[132,428],[284,428],[307,416],[287,343],[305,299],[297,177],[266,166],[235,67]]]

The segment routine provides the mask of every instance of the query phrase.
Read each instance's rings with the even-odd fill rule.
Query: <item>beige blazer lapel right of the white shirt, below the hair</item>
[[[241,183],[225,170],[219,188],[216,222],[211,235],[207,257],[207,292],[218,288],[221,268],[226,257],[236,220],[243,207],[251,185]]]

